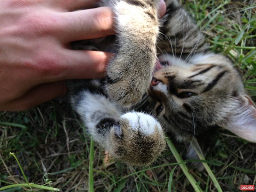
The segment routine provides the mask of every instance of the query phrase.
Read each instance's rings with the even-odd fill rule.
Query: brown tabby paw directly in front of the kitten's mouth
[[[124,57],[125,58],[125,57]],[[131,60],[127,58],[126,60]],[[151,66],[154,66],[152,58]],[[124,65],[125,63],[125,65]],[[144,69],[142,66],[144,66]],[[115,59],[108,66],[105,90],[111,100],[129,106],[138,102],[147,92],[153,72],[152,67],[143,62],[121,62]]]

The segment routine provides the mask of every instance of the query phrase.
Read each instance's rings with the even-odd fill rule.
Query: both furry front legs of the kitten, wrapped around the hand
[[[86,48],[108,51],[116,47],[116,56],[104,79],[69,82],[71,104],[87,132],[111,156],[135,166],[151,164],[165,147],[164,132],[155,118],[124,107],[140,100],[150,85],[159,31],[157,3],[102,0],[101,6],[113,10],[118,34],[86,42]],[[109,40],[114,42],[105,46]]]

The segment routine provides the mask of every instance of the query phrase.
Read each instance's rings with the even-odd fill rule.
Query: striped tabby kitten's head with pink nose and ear
[[[221,126],[256,141],[256,109],[230,61],[218,54],[198,54],[189,61],[162,55],[152,79],[154,108],[178,140]]]

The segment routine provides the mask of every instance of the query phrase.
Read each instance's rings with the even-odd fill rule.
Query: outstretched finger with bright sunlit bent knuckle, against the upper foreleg
[[[60,14],[61,22],[56,34],[64,43],[114,34],[113,12],[109,7]]]

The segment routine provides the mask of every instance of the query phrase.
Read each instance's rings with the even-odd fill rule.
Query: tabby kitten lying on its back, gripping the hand
[[[203,34],[176,0],[165,1],[162,20],[157,2],[101,2],[114,12],[117,35],[87,48],[116,56],[106,78],[69,83],[71,103],[88,132],[111,156],[138,166],[164,150],[161,124],[185,142],[218,126],[256,142],[256,109],[231,62],[205,53]],[[138,102],[145,92],[149,96]]]

